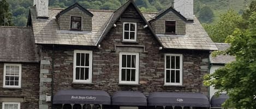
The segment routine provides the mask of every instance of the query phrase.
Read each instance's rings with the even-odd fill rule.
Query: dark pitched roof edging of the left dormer
[[[84,7],[82,7],[79,3],[75,3],[75,4],[71,5],[71,6],[69,6],[68,8],[66,8],[66,9],[64,9],[64,10],[62,10],[62,11],[60,11],[60,12],[56,15],[56,18],[58,18],[59,16],[65,14],[67,11],[72,10],[72,9],[75,8],[75,7],[79,8],[80,10],[82,10],[83,12],[85,12],[85,13],[86,13],[87,15],[89,15],[89,16],[91,16],[91,17],[93,16],[92,12],[90,12],[90,11],[88,11],[87,9],[85,9]]]

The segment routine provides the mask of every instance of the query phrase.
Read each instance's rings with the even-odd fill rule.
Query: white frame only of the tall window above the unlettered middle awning
[[[135,68],[135,81],[122,81],[122,55],[135,55],[136,56],[136,68]],[[119,84],[131,84],[138,85],[139,84],[139,53],[128,53],[128,52],[120,52],[119,53]],[[126,69],[128,69],[126,67]],[[131,75],[132,76],[132,75]]]

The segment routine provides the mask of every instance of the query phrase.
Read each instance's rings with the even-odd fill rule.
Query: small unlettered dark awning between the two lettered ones
[[[147,106],[144,94],[135,91],[117,91],[111,97],[112,105]]]

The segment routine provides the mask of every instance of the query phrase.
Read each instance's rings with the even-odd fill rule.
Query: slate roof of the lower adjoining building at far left
[[[32,28],[0,27],[0,62],[38,62]]]

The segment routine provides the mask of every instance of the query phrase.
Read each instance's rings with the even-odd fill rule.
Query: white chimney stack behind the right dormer
[[[193,0],[172,0],[172,6],[179,11],[187,20],[194,20],[194,1]]]

